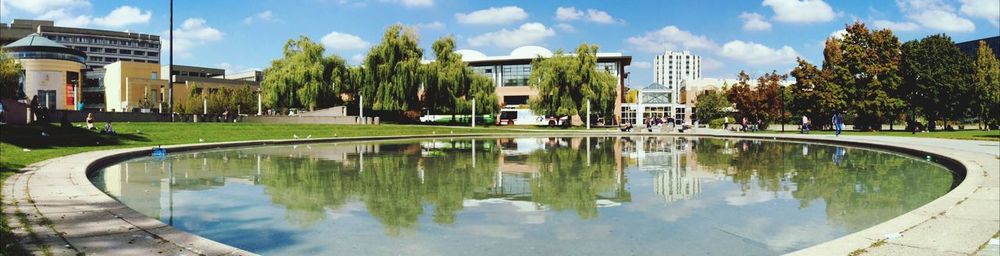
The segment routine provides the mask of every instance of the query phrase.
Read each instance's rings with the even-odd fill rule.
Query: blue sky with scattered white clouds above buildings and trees
[[[162,35],[169,56],[169,2],[0,0],[0,22],[48,19],[57,26]],[[434,40],[457,49],[507,55],[519,46],[573,51],[581,43],[632,56],[629,86],[652,82],[653,56],[665,50],[702,56],[703,77],[790,71],[795,59],[822,62],[823,42],[845,24],[890,28],[902,41],[944,33],[955,42],[1000,35],[998,0],[896,1],[174,1],[175,64],[267,68],[286,41],[307,36],[328,54],[357,64],[393,24],[419,31],[424,58]]]

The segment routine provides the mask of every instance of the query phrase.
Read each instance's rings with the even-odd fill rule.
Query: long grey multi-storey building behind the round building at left
[[[160,36],[87,28],[55,26],[50,20],[14,19],[0,23],[0,45],[29,34],[45,38],[87,54],[82,83],[84,107],[104,108],[104,65],[117,61],[160,63]]]

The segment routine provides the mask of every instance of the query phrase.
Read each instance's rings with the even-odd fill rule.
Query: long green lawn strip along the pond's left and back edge
[[[0,170],[11,171],[31,163],[75,153],[113,148],[225,142],[261,139],[357,137],[443,133],[523,133],[497,127],[423,125],[318,125],[249,123],[116,123],[118,135],[53,125],[0,126]],[[536,128],[538,129],[538,128]],[[560,131],[561,129],[538,129]],[[42,133],[47,134],[43,136]],[[27,149],[28,151],[25,151]]]

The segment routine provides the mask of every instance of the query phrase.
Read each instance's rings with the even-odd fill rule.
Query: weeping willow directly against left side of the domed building
[[[444,37],[432,45],[437,59],[424,68],[424,107],[435,114],[469,113],[476,99],[476,113],[500,109],[493,80],[476,74],[455,53],[455,39]]]

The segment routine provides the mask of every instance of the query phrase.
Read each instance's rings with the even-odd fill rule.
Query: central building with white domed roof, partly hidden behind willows
[[[496,84],[496,94],[503,108],[519,108],[528,104],[528,99],[537,97],[538,91],[528,86],[531,76],[531,61],[538,57],[552,57],[552,51],[540,46],[523,46],[506,56],[486,56],[473,50],[458,50],[462,61],[472,70],[485,75]],[[625,67],[632,64],[632,56],[621,53],[597,53],[597,69],[610,72],[618,81],[614,117],[621,117],[621,102],[624,99]]]

